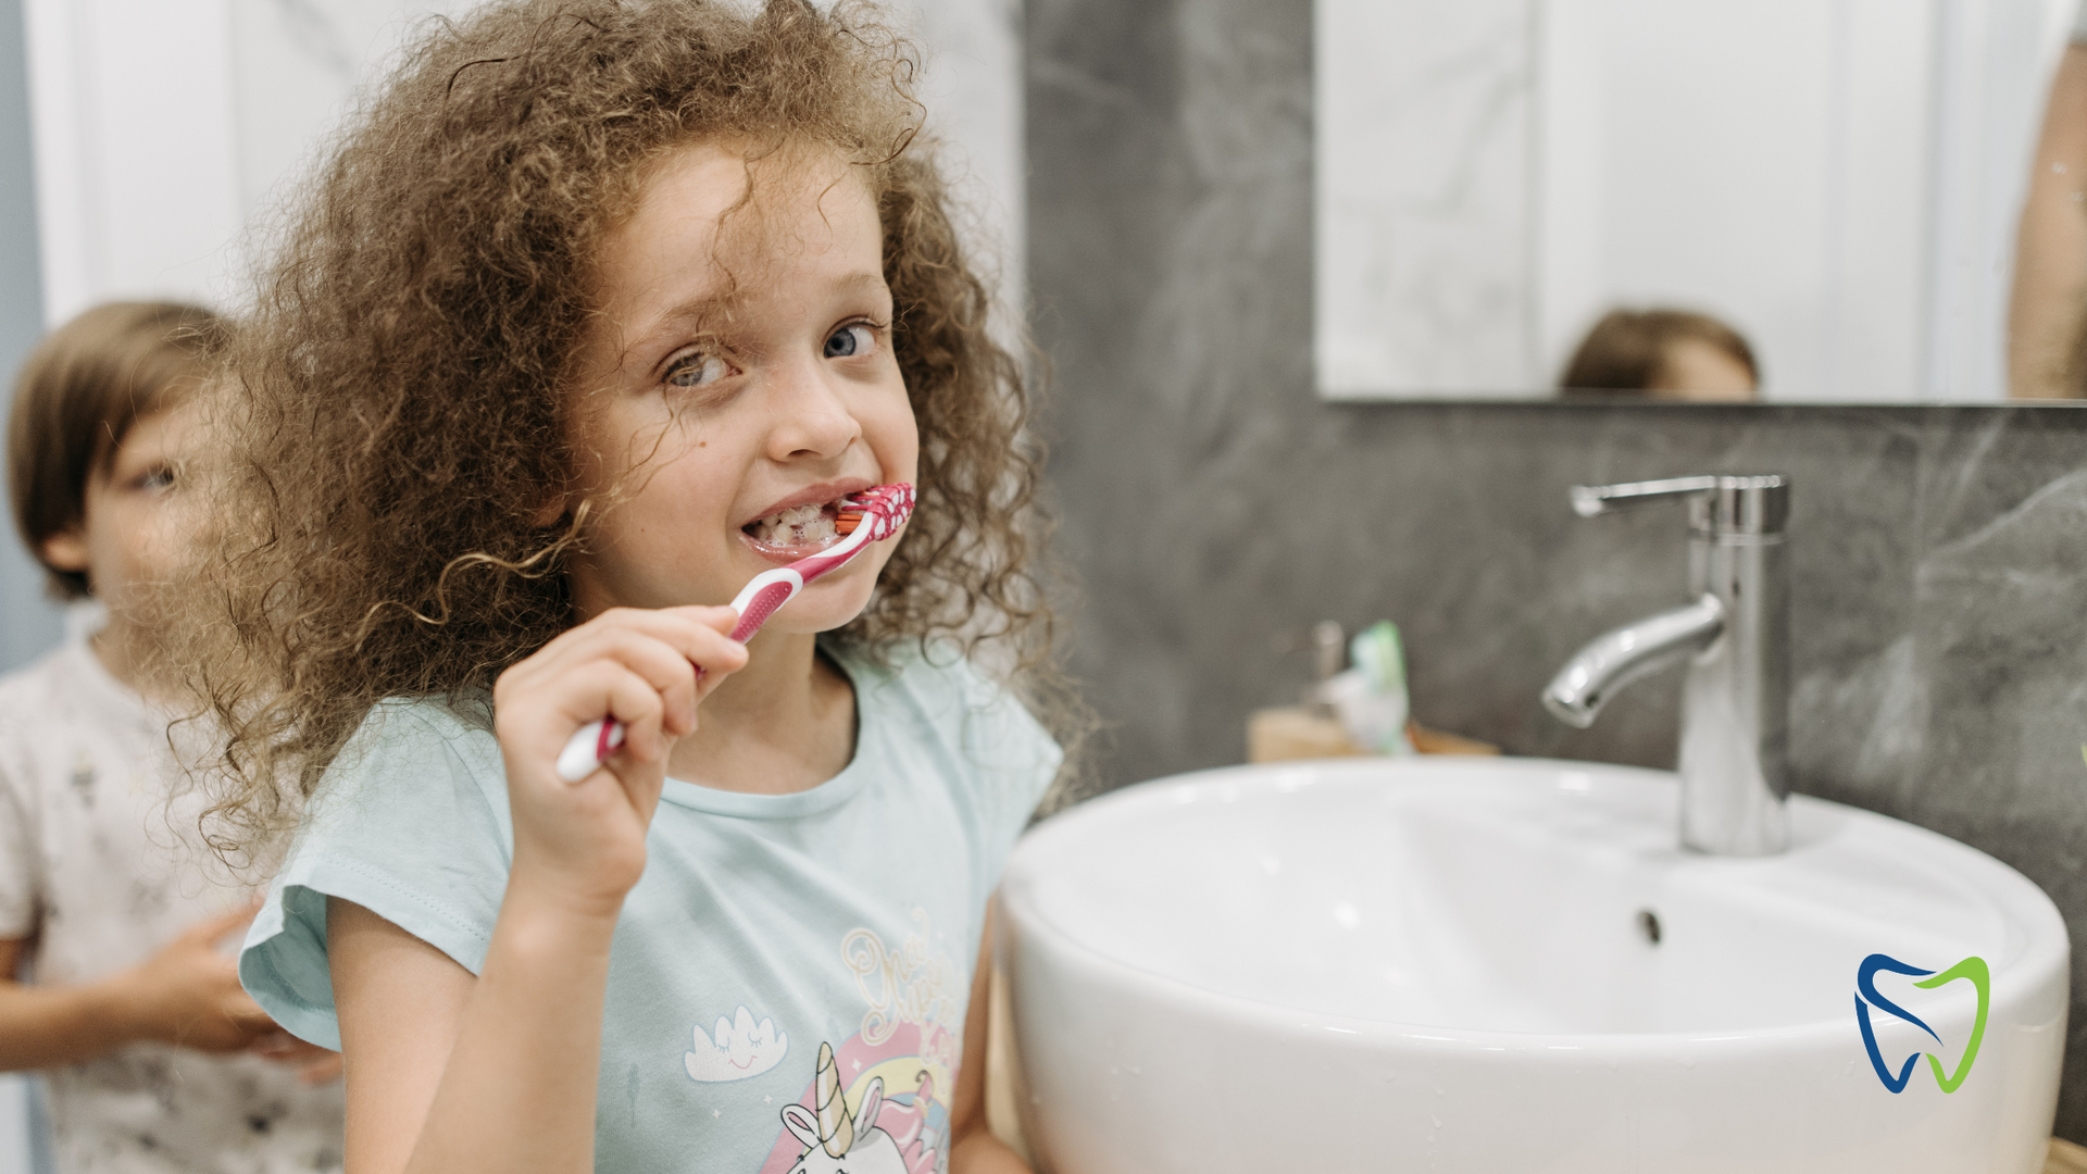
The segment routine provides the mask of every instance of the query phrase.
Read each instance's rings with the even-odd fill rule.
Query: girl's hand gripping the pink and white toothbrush
[[[584,915],[622,909],[645,871],[645,827],[674,739],[747,662],[728,635],[737,618],[730,608],[616,608],[501,673],[493,729],[515,823],[509,896],[522,890]],[[601,717],[624,723],[622,748],[578,783],[559,779],[559,750]]]

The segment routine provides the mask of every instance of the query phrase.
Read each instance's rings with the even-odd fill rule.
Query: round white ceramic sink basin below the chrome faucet
[[[1795,798],[1797,846],[1676,846],[1674,775],[1334,760],[1160,779],[1002,882],[1025,1132],[1056,1174],[2035,1174],[2068,944],[2014,869]],[[1657,942],[1653,923],[1657,921]],[[1916,988],[1889,955],[1968,978]],[[1933,1028],[1933,1038],[1893,1013]]]

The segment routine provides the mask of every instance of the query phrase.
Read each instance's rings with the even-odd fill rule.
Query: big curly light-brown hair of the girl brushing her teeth
[[[209,614],[169,650],[223,735],[219,852],[275,840],[378,700],[490,687],[572,627],[561,570],[614,493],[551,526],[538,503],[574,489],[589,259],[691,140],[833,150],[877,196],[918,510],[841,637],[1002,639],[1064,708],[1029,389],[918,138],[916,67],[856,4],[513,0],[436,25],[357,111],[217,382]]]

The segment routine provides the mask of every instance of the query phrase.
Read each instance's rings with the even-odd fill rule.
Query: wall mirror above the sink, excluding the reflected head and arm
[[[1768,401],[2004,397],[2077,10],[1317,0],[1321,397],[1549,397],[1615,307],[1730,324]]]

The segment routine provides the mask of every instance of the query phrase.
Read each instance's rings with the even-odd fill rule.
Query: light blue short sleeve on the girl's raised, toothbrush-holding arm
[[[240,982],[290,1034],[340,1049],[326,900],[353,900],[478,973],[511,859],[493,733],[434,702],[380,704],[321,779],[246,934]]]

